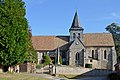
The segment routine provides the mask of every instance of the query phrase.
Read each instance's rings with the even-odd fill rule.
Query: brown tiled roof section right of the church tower
[[[85,46],[114,46],[112,34],[110,33],[88,33],[83,35]]]

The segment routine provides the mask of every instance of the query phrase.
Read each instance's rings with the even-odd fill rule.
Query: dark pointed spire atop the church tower
[[[75,16],[74,16],[74,19],[73,19],[72,26],[71,26],[70,30],[73,30],[73,29],[83,30],[83,28],[80,26],[77,11],[75,12]]]

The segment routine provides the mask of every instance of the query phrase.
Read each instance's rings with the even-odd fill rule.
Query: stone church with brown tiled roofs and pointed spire
[[[33,36],[38,64],[48,54],[53,63],[61,56],[63,65],[85,67],[86,64],[92,64],[95,69],[114,70],[116,51],[112,34],[84,33],[77,12],[69,33],[69,36]]]

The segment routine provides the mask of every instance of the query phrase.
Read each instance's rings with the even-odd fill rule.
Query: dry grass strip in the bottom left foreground
[[[0,80],[49,80],[39,75],[28,73],[0,73]]]

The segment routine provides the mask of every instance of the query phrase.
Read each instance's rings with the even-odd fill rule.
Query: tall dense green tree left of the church
[[[4,68],[29,60],[29,28],[22,0],[0,0],[0,64]]]

